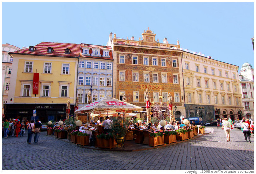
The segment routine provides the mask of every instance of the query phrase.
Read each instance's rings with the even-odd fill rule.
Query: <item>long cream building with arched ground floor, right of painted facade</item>
[[[183,49],[186,117],[241,119],[238,66]]]

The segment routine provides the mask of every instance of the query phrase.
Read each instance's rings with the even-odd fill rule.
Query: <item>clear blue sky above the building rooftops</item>
[[[2,2],[2,43],[106,45],[109,33],[156,40],[254,68],[254,2]]]

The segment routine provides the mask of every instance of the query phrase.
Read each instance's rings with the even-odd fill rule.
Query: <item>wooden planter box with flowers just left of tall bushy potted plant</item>
[[[96,136],[95,148],[109,148],[114,147],[113,135],[110,133],[102,133]]]

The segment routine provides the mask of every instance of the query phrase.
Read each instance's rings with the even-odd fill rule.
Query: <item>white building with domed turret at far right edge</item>
[[[239,80],[244,107],[243,116],[247,119],[254,119],[254,69],[252,65],[249,63],[242,65]]]

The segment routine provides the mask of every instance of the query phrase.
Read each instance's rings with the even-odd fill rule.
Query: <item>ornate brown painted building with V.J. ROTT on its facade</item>
[[[148,28],[136,41],[134,37],[122,39],[110,33],[107,45],[113,50],[113,97],[122,100],[125,94],[127,102],[145,109],[147,88],[151,103],[159,103],[159,96],[166,103],[171,93],[178,115],[185,114],[179,41],[169,44],[164,38],[160,43],[155,35]]]

